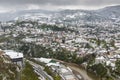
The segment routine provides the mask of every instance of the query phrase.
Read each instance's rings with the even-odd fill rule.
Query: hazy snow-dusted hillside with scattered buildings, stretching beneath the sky
[[[1,13],[1,21],[18,19],[33,19],[41,22],[80,24],[83,22],[120,21],[120,5],[107,6],[98,10],[24,10],[11,13]]]

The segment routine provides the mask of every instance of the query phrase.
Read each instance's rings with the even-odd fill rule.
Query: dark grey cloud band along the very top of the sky
[[[24,4],[52,4],[52,5],[105,5],[120,4],[120,0],[0,0],[0,4],[24,5]]]

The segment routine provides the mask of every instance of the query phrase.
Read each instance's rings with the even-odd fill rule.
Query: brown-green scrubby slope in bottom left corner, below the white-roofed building
[[[12,64],[10,58],[0,51],[0,80],[16,80],[17,66]]]

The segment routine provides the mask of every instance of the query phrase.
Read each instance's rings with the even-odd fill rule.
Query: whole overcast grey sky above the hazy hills
[[[0,0],[0,13],[29,9],[98,9],[120,0]]]

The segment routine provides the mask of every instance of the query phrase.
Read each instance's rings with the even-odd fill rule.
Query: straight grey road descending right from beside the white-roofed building
[[[39,75],[41,76],[42,80],[53,80],[53,78],[51,76],[49,76],[45,71],[44,71],[44,68],[32,61],[28,61],[34,68],[34,71]]]

